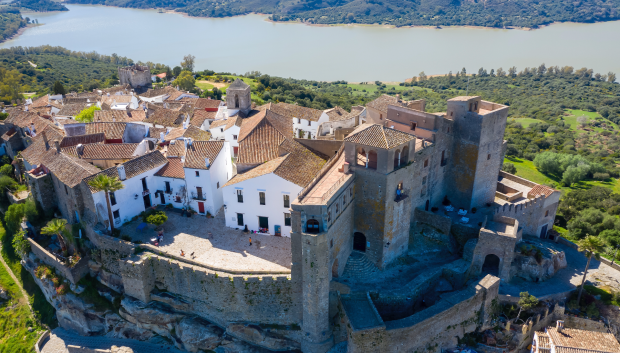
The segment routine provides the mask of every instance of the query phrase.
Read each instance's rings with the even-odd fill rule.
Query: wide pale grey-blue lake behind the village
[[[25,13],[43,26],[0,44],[59,45],[117,53],[135,61],[312,80],[403,81],[467,68],[571,65],[620,74],[620,21],[564,23],[535,31],[478,28],[315,27],[271,23],[266,16],[196,18],[156,10],[67,5],[70,11]],[[614,34],[615,33],[615,34]],[[616,44],[613,44],[616,43]]]

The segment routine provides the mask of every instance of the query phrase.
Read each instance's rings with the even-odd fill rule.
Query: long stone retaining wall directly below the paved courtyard
[[[291,325],[301,322],[286,276],[232,276],[151,253],[120,260],[125,294],[145,303],[154,288],[181,297],[189,312],[221,326],[231,322]]]

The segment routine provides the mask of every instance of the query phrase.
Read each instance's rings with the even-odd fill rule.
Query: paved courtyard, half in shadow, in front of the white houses
[[[168,221],[164,223],[164,241],[158,249],[164,255],[180,256],[223,271],[252,273],[253,271],[290,273],[291,239],[272,235],[246,234],[242,230],[228,228],[224,212],[215,218],[193,215],[191,218],[166,210]],[[142,232],[137,230],[141,220],[121,227],[121,234],[132,241],[152,244],[156,237],[155,227],[148,225]],[[252,237],[252,246],[249,238]]]

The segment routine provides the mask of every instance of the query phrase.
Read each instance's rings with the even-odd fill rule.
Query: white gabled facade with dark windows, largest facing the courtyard
[[[243,226],[237,225],[237,213],[243,213],[244,225],[247,225],[249,230],[258,230],[258,217],[269,217],[271,235],[275,234],[274,226],[279,225],[282,236],[290,237],[291,227],[284,225],[284,214],[290,213],[290,210],[284,207],[283,196],[289,195],[292,203],[301,189],[301,186],[275,174],[262,175],[227,186],[223,190],[226,226],[242,229]],[[237,190],[243,192],[243,203],[237,202]],[[260,191],[265,192],[265,205],[260,204]]]

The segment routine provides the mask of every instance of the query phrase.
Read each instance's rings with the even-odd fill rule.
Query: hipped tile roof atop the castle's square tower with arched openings
[[[370,147],[390,149],[415,139],[415,136],[378,124],[362,124],[344,140]]]

